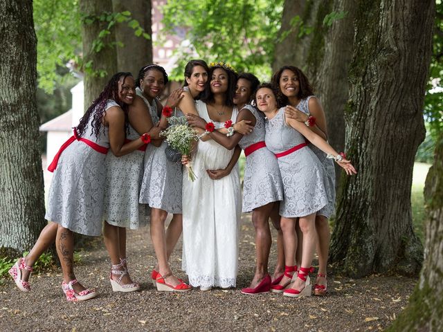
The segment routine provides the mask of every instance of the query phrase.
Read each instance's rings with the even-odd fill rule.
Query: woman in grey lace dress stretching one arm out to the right
[[[284,295],[298,297],[311,295],[309,270],[316,245],[315,217],[316,212],[328,202],[323,166],[307,147],[305,139],[333,156],[347,174],[355,174],[356,171],[349,160],[345,160],[304,123],[285,118],[284,108],[278,109],[275,95],[271,84],[262,84],[257,90],[255,100],[257,107],[266,115],[266,146],[278,158],[282,175],[284,200],[280,203],[280,216],[286,265],[293,266],[295,261],[297,218],[303,232],[303,252],[298,278],[291,288],[284,289],[291,282],[291,276],[285,274],[280,284],[272,289],[278,292],[284,290]]]

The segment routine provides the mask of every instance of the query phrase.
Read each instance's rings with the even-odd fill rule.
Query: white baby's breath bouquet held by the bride
[[[192,142],[199,139],[195,129],[189,127],[188,121],[184,117],[171,116],[168,118],[169,127],[163,130],[160,134],[165,136],[166,142],[176,149],[181,154],[190,156],[192,149]],[[190,181],[195,181],[197,176],[192,170],[191,163],[186,164],[188,169],[188,178]]]

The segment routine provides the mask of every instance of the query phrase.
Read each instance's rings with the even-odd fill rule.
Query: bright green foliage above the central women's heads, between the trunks
[[[269,79],[282,0],[171,0],[163,15],[164,32],[185,35],[190,42],[175,51],[172,79],[183,80],[183,68],[193,58],[224,60],[237,71]]]

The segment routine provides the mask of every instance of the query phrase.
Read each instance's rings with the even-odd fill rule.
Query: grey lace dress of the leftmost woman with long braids
[[[118,104],[109,100],[105,110],[113,106]],[[109,148],[108,128],[102,126],[96,137],[92,133],[92,119],[93,114],[82,138]],[[64,149],[48,192],[45,219],[84,235],[99,236],[102,233],[105,157],[106,154],[80,140]]]

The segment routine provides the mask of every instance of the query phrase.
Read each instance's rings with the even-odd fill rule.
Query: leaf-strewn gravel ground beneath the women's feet
[[[31,292],[12,281],[0,288],[0,331],[374,331],[386,328],[406,306],[415,279],[365,279],[328,276],[329,295],[291,299],[272,293],[242,295],[254,270],[254,232],[250,216],[242,219],[237,289],[185,294],[157,292],[150,282],[155,263],[149,229],[128,234],[129,270],[142,291],[113,293],[109,262],[101,243],[84,252],[78,279],[100,296],[66,302],[60,271],[31,276]],[[271,265],[275,259],[275,243]],[[181,243],[171,257],[179,277]],[[312,275],[314,277],[314,275]]]

